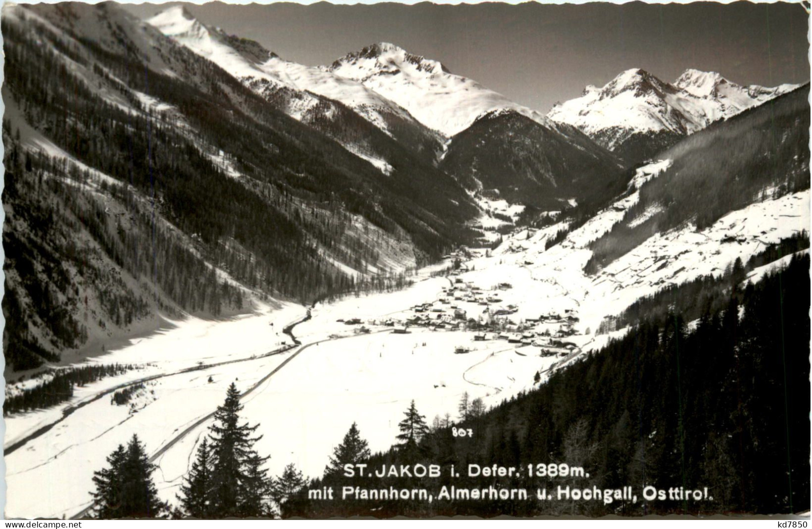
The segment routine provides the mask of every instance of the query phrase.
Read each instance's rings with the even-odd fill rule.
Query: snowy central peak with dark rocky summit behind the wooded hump
[[[512,102],[477,81],[457,76],[442,63],[381,42],[347,54],[329,67],[396,102],[425,126],[452,137],[492,111],[516,111],[550,127],[538,111]]]

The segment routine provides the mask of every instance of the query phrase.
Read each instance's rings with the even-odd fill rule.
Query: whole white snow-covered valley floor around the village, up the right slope
[[[587,245],[622,219],[617,210],[599,213],[546,251],[545,241],[562,226],[518,232],[506,237],[490,257],[466,262],[469,270],[460,273],[462,283],[456,284],[456,278],[431,278],[424,271],[416,284],[399,292],[318,304],[312,319],[293,330],[301,345],[270,356],[263,355],[283,347],[284,340],[289,345],[282,329],[302,319],[305,307],[266,307],[221,322],[177,322],[175,328],[92,361],[138,363],[142,369],[77,388],[63,405],[6,418],[6,449],[59,421],[6,454],[6,518],[80,514],[90,505],[93,471],[102,469],[106,456],[133,433],[150,454],[160,451],[154,477],[162,498],[175,503],[182,476],[210,423],[206,417],[222,403],[232,381],[241,392],[251,389],[243,399],[243,415],[248,422],[261,424],[257,433],[263,437],[257,449],[271,456],[270,474],[279,475],[293,462],[305,475],[321,475],[333,447],[353,422],[369,448],[378,451],[395,442],[397,423],[412,399],[431,422],[446,413],[456,418],[464,392],[490,406],[532,388],[537,371],[543,380],[551,367],[565,366],[605,344],[609,336],[594,334],[604,316],[619,313],[637,297],[666,284],[722,273],[737,257],[746,260],[765,245],[808,229],[809,211],[809,191],[760,202],[726,215],[702,232],[687,226],[651,237],[592,276],[582,271],[591,255]],[[657,266],[652,266],[654,262]],[[759,269],[758,274],[763,272]],[[500,284],[509,286],[499,288]],[[485,306],[486,301],[473,301],[467,293],[453,299],[443,292],[452,285],[468,291],[478,287],[483,298],[499,301]],[[451,299],[443,304],[442,297]],[[486,308],[513,306],[510,318],[516,322],[542,314],[577,314],[565,338],[575,349],[542,356],[538,345],[508,343],[495,336],[474,341],[473,332],[432,331],[428,326],[396,334],[395,327],[383,324],[387,319],[400,323],[415,317],[413,308],[421,304],[438,308],[427,313],[435,319],[443,314],[451,319],[455,310],[451,306],[466,310],[473,319],[481,319]],[[348,325],[347,319],[361,323]],[[361,326],[370,332],[357,332]],[[539,323],[536,330],[538,336],[555,332],[559,323]],[[469,351],[455,353],[460,346]],[[229,361],[235,362],[222,363]],[[196,366],[200,368],[184,371]],[[145,382],[132,406],[114,405],[108,396],[93,400],[110,388],[152,375],[163,376]],[[76,409],[63,417],[70,406]]]

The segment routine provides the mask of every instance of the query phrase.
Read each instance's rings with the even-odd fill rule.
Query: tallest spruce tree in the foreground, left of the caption
[[[257,494],[261,492],[258,468],[268,457],[258,457],[253,445],[261,436],[252,437],[258,424],[240,424],[240,392],[233,382],[226,392],[226,401],[214,412],[211,433],[212,452],[212,514],[228,516],[259,516],[256,513]],[[262,485],[264,487],[264,485]]]

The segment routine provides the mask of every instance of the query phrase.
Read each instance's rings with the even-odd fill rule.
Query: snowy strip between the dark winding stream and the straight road
[[[105,466],[105,457],[116,446],[137,434],[153,453],[222,404],[231,381],[239,379],[240,387],[256,382],[286,356],[157,379],[145,384],[146,395],[136,400],[135,410],[112,404],[110,397],[76,410],[47,434],[6,457],[6,517],[76,514],[89,503],[93,470]],[[156,478],[160,480],[171,468],[162,466]],[[33,490],[40,493],[32,495]],[[174,500],[174,494],[166,499]]]

